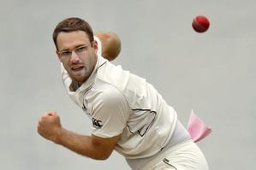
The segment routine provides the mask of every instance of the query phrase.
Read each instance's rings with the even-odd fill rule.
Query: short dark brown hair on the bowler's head
[[[93,38],[93,32],[92,32],[92,27],[89,25],[88,22],[77,18],[77,17],[71,17],[67,18],[60,23],[57,24],[57,26],[54,29],[54,32],[52,34],[52,38],[54,41],[54,44],[57,48],[57,36],[60,32],[74,32],[74,31],[83,31],[86,32],[88,35],[88,38],[92,44],[92,41],[94,40]]]

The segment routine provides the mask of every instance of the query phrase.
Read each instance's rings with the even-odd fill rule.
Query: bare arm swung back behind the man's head
[[[102,44],[102,56],[113,61],[121,51],[121,40],[114,32],[96,32],[95,36]]]

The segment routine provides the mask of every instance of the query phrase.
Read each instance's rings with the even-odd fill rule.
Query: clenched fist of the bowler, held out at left
[[[54,143],[59,143],[58,140],[61,130],[60,117],[56,112],[48,112],[41,116],[38,124],[38,132],[42,137]]]

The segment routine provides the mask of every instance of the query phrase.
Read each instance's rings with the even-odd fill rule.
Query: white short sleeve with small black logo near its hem
[[[111,138],[122,133],[130,114],[128,102],[121,91],[109,88],[100,91],[93,104],[92,134]]]

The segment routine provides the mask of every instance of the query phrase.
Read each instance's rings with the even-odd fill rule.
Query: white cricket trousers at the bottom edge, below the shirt
[[[141,170],[208,170],[205,155],[192,140],[165,150]]]

